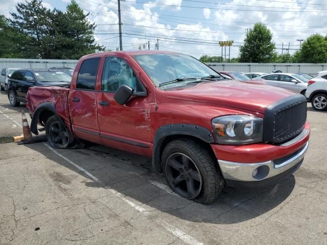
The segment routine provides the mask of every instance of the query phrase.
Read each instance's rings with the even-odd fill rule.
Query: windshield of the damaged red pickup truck
[[[152,82],[159,84],[176,79],[203,78],[211,75],[219,76],[213,69],[197,59],[182,54],[145,54],[133,56],[137,63],[147,72]],[[189,83],[191,80],[188,80]],[[169,84],[180,86],[180,83]]]

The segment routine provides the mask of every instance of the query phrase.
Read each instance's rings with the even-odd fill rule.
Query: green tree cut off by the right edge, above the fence
[[[327,40],[320,34],[313,34],[305,40],[300,50],[300,62],[324,63],[327,59]]]

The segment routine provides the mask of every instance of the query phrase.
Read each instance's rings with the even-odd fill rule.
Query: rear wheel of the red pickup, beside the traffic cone
[[[56,115],[49,117],[46,121],[45,135],[53,148],[64,149],[74,142],[73,134]]]

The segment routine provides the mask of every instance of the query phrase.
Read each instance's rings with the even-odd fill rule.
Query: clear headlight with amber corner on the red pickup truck
[[[263,119],[249,115],[220,116],[212,120],[220,144],[250,144],[262,142]]]

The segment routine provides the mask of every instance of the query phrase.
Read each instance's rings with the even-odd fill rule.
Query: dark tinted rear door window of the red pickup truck
[[[95,90],[100,58],[84,60],[78,72],[76,88]]]

